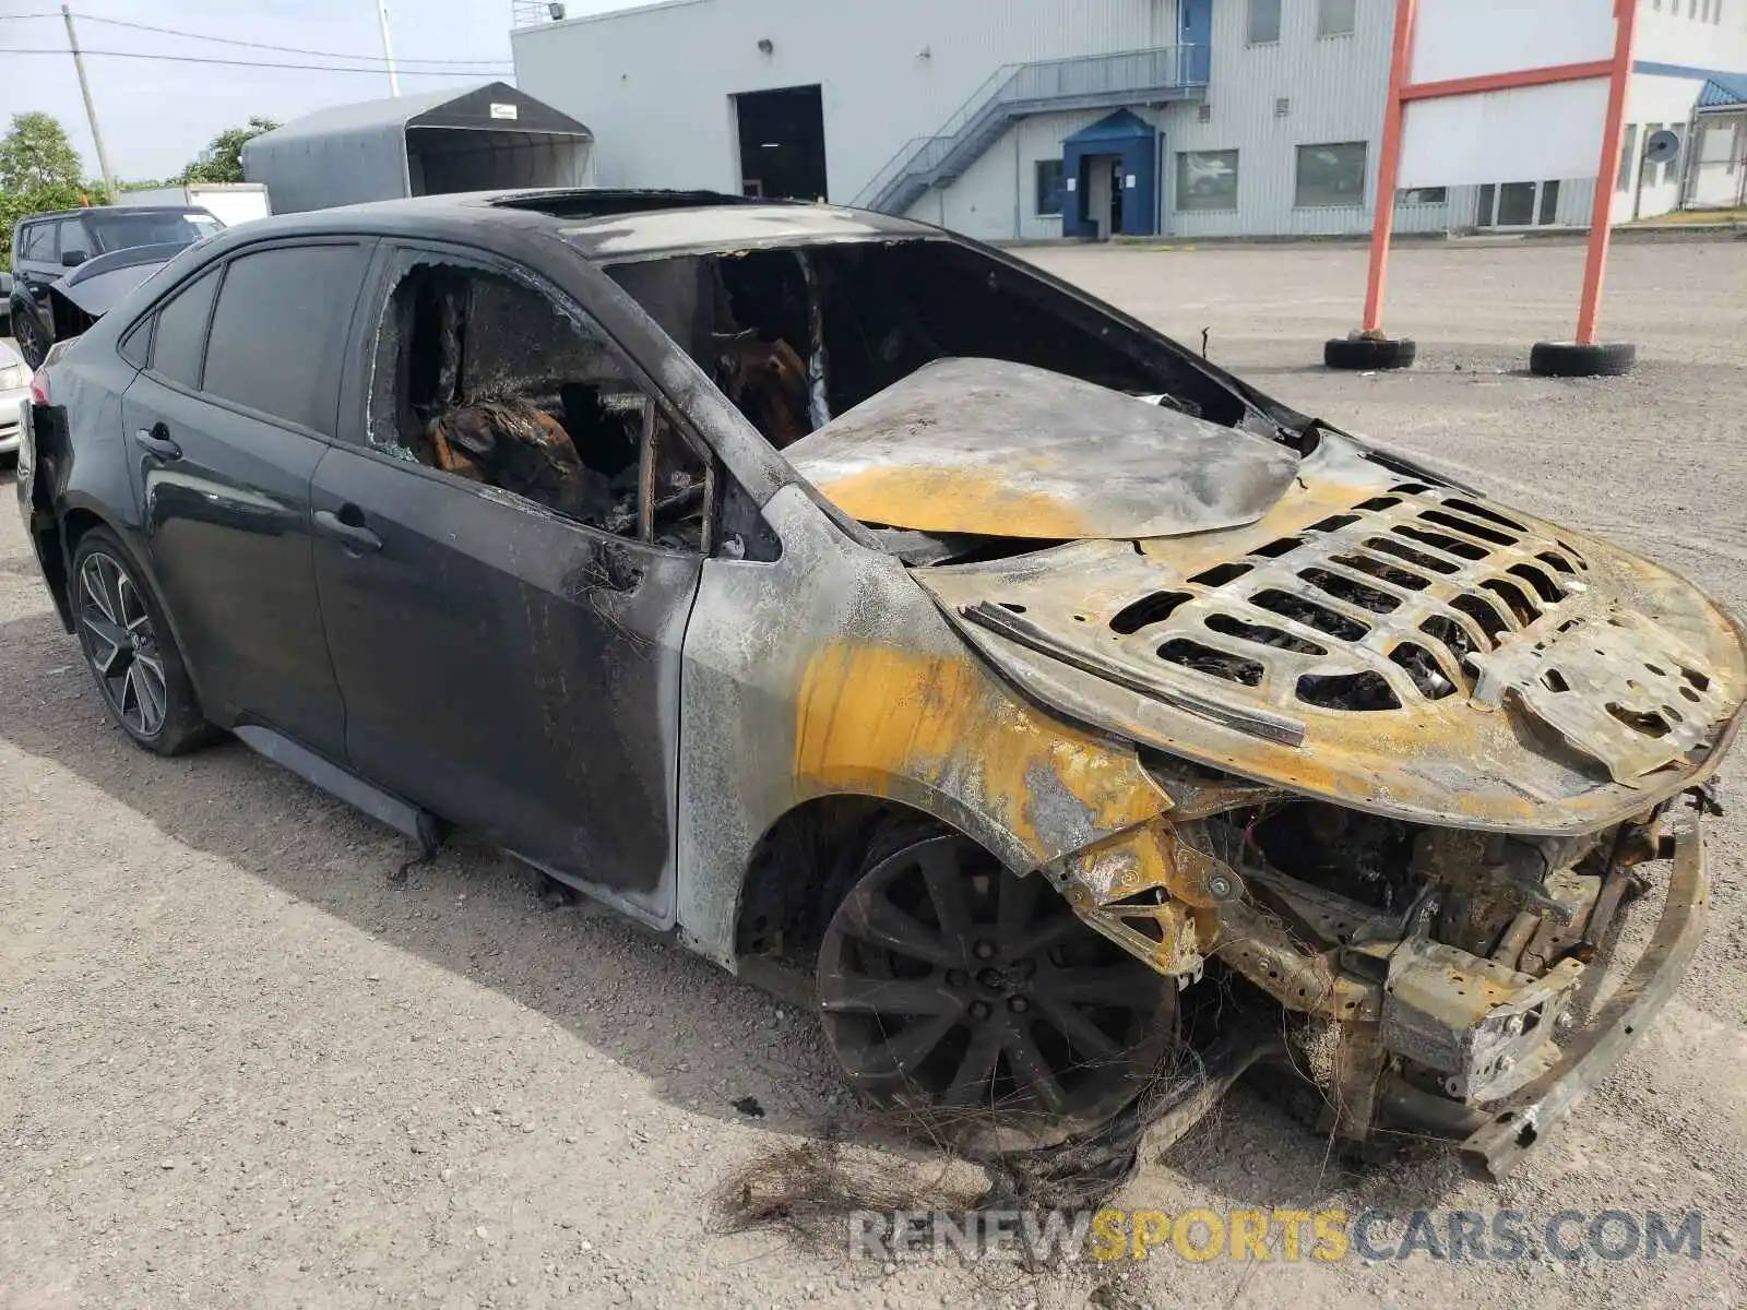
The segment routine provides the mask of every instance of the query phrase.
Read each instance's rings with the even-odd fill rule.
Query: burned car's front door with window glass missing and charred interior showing
[[[348,758],[671,924],[708,461],[528,269],[384,245],[377,285],[311,489]]]

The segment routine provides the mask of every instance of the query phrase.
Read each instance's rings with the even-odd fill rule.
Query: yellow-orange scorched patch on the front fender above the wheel
[[[826,791],[889,795],[898,777],[952,791],[1039,861],[1062,852],[1032,812],[1039,779],[1099,833],[1169,803],[1132,751],[1032,709],[970,657],[833,643],[809,662],[795,713],[797,777]]]

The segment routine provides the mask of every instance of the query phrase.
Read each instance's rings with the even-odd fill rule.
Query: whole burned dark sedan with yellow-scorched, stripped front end
[[[826,206],[220,234],[38,376],[17,486],[142,746],[805,978],[980,1149],[1272,1058],[1508,1169],[1679,982],[1747,695],[1667,569]]]

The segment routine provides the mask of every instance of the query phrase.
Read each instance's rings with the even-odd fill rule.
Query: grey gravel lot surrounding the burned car
[[[1581,250],[1408,246],[1405,376],[1329,376],[1352,248],[1048,250],[1039,264],[1328,416],[1637,547],[1747,615],[1747,243],[1625,245],[1619,381],[1516,372],[1569,335]],[[9,482],[9,479],[7,479]],[[10,487],[5,487],[10,498]],[[108,725],[0,510],[0,1307],[1740,1303],[1747,788],[1712,824],[1695,971],[1502,1186],[1452,1158],[1352,1176],[1239,1088],[1120,1203],[1703,1212],[1703,1258],[1190,1265],[1027,1275],[821,1256],[709,1228],[735,1167],[840,1118],[812,1020],[459,844],[398,838],[236,744]],[[756,1097],[765,1118],[734,1104]],[[1157,1155],[1157,1153],[1151,1153]],[[1120,1294],[1118,1294],[1120,1293]],[[1132,1300],[1129,1300],[1132,1298]]]

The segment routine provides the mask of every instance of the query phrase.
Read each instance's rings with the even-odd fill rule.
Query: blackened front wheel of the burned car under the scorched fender
[[[956,833],[870,851],[818,996],[851,1085],[975,1155],[1097,1128],[1177,1036],[1170,982]]]

